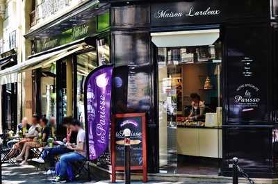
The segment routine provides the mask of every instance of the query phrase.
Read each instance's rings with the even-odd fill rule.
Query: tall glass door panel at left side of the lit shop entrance
[[[177,173],[177,115],[181,113],[181,67],[176,49],[158,48],[160,172]]]

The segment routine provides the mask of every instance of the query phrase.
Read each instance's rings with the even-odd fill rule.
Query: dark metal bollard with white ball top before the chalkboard
[[[131,183],[131,165],[130,165],[130,135],[129,128],[124,129],[124,183]]]

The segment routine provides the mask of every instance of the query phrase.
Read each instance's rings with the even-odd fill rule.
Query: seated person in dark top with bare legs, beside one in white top
[[[22,152],[19,154],[19,156],[17,156],[17,158],[15,158],[15,160],[23,160],[23,156],[25,156],[22,165],[28,164],[27,160],[30,153],[30,149],[44,147],[47,144],[47,139],[50,135],[50,128],[49,126],[47,126],[47,122],[48,120],[45,117],[40,119],[40,126],[42,126],[42,131],[40,134],[42,135],[39,136],[37,140],[33,140],[32,142],[26,142],[24,144]]]

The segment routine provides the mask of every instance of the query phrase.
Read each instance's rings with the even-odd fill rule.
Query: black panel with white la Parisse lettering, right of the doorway
[[[270,57],[268,24],[227,26],[227,121],[229,125],[265,125],[268,122]],[[254,47],[260,45],[260,47]],[[275,86],[275,85],[274,85]],[[276,95],[274,95],[276,96]],[[272,102],[269,104],[273,104]],[[275,117],[275,110],[272,112]]]

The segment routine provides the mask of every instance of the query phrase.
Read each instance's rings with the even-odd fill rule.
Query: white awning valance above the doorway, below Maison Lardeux
[[[151,33],[156,47],[191,47],[213,44],[218,40],[219,29]]]

